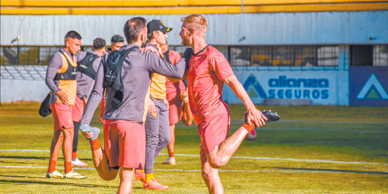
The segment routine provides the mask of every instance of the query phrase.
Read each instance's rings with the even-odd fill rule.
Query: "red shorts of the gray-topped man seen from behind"
[[[144,169],[144,123],[105,120],[104,150],[111,167]]]

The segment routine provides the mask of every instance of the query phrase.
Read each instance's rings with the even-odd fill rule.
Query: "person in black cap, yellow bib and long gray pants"
[[[152,20],[147,24],[146,46],[159,50],[160,45],[166,43],[168,28],[160,20]],[[144,172],[137,170],[135,178],[144,182],[144,189],[165,190],[168,185],[162,185],[154,179],[154,159],[170,142],[170,126],[168,120],[168,100],[166,99],[166,77],[154,73],[151,79],[151,96],[149,98],[148,113],[145,120],[145,167]],[[145,174],[144,174],[145,173]]]

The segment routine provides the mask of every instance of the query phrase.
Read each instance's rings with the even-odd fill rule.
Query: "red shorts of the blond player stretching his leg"
[[[201,164],[208,161],[206,156],[215,150],[216,145],[228,138],[229,127],[229,113],[211,117],[197,126],[201,137]]]

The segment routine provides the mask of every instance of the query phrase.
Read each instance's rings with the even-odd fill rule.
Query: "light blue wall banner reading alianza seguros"
[[[348,71],[234,71],[253,103],[263,99],[310,99],[311,104],[348,105]],[[225,86],[223,99],[242,104]]]

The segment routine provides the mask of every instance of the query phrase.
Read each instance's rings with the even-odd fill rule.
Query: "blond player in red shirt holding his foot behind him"
[[[223,186],[218,168],[226,165],[245,135],[255,125],[264,125],[267,118],[255,108],[223,54],[206,43],[208,19],[192,14],[182,17],[181,21],[183,24],[179,35],[182,45],[190,45],[191,48],[187,50],[192,50],[193,53],[183,79],[187,78],[190,109],[201,136],[202,177],[209,193],[222,194]],[[222,101],[224,82],[248,110],[247,122],[229,138],[229,110]]]

